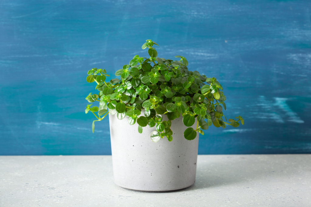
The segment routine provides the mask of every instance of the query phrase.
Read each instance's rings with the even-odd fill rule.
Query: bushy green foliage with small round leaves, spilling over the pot
[[[226,97],[216,78],[189,71],[188,61],[183,56],[175,56],[180,58],[179,61],[157,57],[154,45],[159,46],[150,39],[146,40],[142,49],[148,48],[150,58],[135,55],[128,65],[115,73],[120,79],[106,82],[106,77],[109,77],[106,70],[89,70],[86,81],[95,81],[95,89],[99,93],[90,93],[86,100],[100,103],[99,107],[87,105],[85,113],[91,111],[97,118],[95,121],[101,121],[108,113],[116,114],[118,119],[128,116],[129,124],[137,122],[139,133],[147,125],[156,126],[156,131],[150,135],[153,142],[163,137],[172,141],[171,121],[180,116],[183,116],[183,124],[188,127],[183,133],[187,140],[193,140],[197,132],[204,134],[202,129],[208,129],[211,124],[223,128],[226,124],[238,127],[239,121],[244,124],[241,116],[235,117],[237,120],[227,120],[223,115]],[[97,115],[94,112],[98,112]],[[163,121],[162,115],[169,120]],[[193,129],[195,119],[197,127]],[[92,124],[93,133],[95,121]]]

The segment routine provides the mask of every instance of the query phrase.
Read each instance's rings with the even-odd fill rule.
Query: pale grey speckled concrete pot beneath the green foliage
[[[171,142],[166,137],[152,142],[150,133],[156,127],[143,127],[140,134],[138,124],[128,124],[128,117],[119,120],[109,114],[109,125],[115,184],[137,191],[174,191],[193,185],[199,133],[194,140],[186,140],[182,116],[172,120]]]

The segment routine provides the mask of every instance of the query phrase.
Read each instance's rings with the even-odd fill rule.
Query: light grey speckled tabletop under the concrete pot
[[[0,206],[307,207],[311,155],[199,155],[195,184],[169,193],[118,187],[111,156],[0,156]]]

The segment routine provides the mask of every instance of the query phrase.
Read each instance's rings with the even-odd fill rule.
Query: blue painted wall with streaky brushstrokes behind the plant
[[[146,39],[224,86],[227,117],[199,154],[311,153],[311,2],[0,1],[0,155],[107,155],[85,114],[87,70],[114,72]]]

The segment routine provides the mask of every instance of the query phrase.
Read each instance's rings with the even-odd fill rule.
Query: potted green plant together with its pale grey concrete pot
[[[199,133],[212,124],[238,127],[244,120],[223,115],[226,97],[216,78],[189,71],[183,56],[175,56],[179,61],[159,58],[154,45],[146,40],[142,49],[148,48],[150,57],[135,55],[115,73],[120,79],[106,82],[105,70],[89,70],[86,81],[96,82],[99,93],[90,93],[86,100],[100,103],[87,105],[85,112],[91,111],[95,121],[109,114],[117,185],[166,192],[195,182]]]

